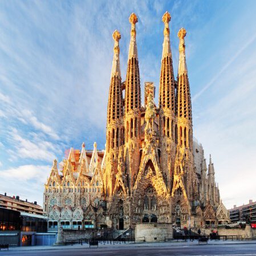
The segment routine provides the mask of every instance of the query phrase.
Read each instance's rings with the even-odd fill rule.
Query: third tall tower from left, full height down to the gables
[[[170,50],[170,14],[162,16],[164,22],[164,43],[162,44],[162,60],[159,89],[160,108],[160,148],[161,168],[168,188],[172,186],[172,170],[174,169],[176,152],[176,116],[174,104],[174,75],[172,51]],[[167,152],[167,154],[165,154]]]

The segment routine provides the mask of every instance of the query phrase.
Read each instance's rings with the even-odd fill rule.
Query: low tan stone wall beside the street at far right
[[[217,229],[205,229],[205,234],[212,233],[212,230],[218,230],[218,235],[241,235],[243,239],[256,238],[256,230],[251,229],[250,225],[246,225],[245,229],[226,229],[218,227]]]

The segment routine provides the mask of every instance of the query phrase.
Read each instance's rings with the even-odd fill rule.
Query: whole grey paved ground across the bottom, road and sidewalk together
[[[89,245],[68,246],[34,246],[11,247],[9,251],[1,250],[1,255],[12,256],[71,256],[71,255],[256,255],[256,241],[209,241],[208,245],[198,245],[193,242],[165,242],[165,243],[130,243],[104,245],[99,248]]]

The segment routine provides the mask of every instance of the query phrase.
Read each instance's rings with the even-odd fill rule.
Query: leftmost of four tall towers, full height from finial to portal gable
[[[119,60],[119,40],[121,35],[119,31],[113,32],[114,55],[111,70],[111,81],[108,94],[107,108],[107,144],[106,144],[106,171],[105,171],[105,192],[111,197],[115,186],[115,174],[117,173],[117,157],[119,147],[123,144],[123,96],[121,91],[121,72]]]

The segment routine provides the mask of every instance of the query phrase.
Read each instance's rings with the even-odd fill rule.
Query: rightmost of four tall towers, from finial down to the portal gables
[[[181,28],[178,31],[180,44],[178,47],[180,56],[178,62],[178,88],[177,88],[177,145],[184,154],[185,166],[185,188],[189,200],[193,200],[195,183],[193,163],[193,132],[192,132],[192,108],[188,80],[188,69],[186,67],[185,41],[186,30]]]

